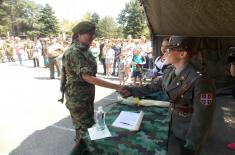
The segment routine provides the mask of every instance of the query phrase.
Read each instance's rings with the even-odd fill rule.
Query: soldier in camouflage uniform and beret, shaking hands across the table
[[[80,22],[72,31],[72,44],[62,57],[61,91],[65,92],[66,107],[76,129],[75,141],[80,142],[94,124],[95,85],[116,90],[120,86],[96,78],[97,64],[89,50],[95,25]]]

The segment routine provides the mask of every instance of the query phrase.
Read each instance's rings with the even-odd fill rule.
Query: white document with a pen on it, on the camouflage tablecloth
[[[137,131],[140,128],[144,112],[121,111],[112,126]]]

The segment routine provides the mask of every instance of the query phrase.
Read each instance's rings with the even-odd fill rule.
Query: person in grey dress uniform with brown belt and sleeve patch
[[[145,96],[163,90],[171,99],[168,155],[198,155],[208,138],[215,110],[215,86],[190,63],[195,38],[172,36],[166,60],[174,67],[162,80],[143,87],[124,87],[123,96]]]

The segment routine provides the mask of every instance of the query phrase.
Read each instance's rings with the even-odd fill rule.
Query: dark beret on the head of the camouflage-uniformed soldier
[[[73,34],[95,33],[95,24],[89,21],[82,21],[73,27]]]

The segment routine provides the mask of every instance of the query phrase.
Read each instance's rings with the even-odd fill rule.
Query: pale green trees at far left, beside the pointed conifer
[[[34,1],[4,0],[0,5],[0,34],[24,35],[37,31],[39,8]]]

